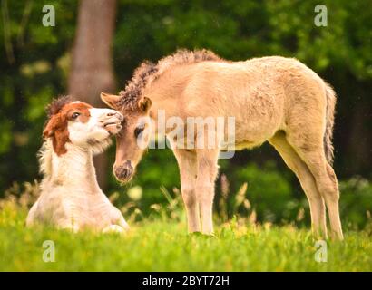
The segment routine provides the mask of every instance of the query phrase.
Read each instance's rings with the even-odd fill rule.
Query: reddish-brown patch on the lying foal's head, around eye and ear
[[[44,128],[43,137],[44,139],[52,139],[54,152],[58,156],[67,153],[65,145],[67,142],[70,142],[68,121],[86,123],[91,117],[89,111],[91,108],[93,108],[91,105],[84,102],[62,102],[59,99],[55,100],[48,107],[50,119]],[[73,119],[75,112],[78,112],[80,115],[78,118]]]

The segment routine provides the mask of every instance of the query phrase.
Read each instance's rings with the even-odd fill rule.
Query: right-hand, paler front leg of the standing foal
[[[214,183],[218,174],[218,150],[199,150],[197,152],[198,175],[196,179],[196,196],[201,207],[202,233],[213,233],[213,198]]]

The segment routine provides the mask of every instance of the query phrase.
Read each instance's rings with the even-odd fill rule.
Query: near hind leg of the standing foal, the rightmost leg
[[[317,137],[317,133],[311,134],[311,131],[305,129],[302,129],[301,135],[304,138],[299,138],[293,133],[289,134],[287,140],[308,165],[308,169],[317,182],[318,191],[326,201],[331,237],[342,240],[343,234],[338,210],[338,179],[326,159],[323,138]]]

